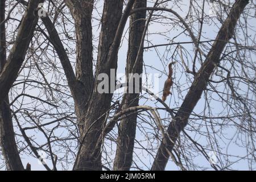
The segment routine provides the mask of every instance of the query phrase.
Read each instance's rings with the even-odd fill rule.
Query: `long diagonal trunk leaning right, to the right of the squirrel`
[[[180,106],[179,111],[177,111],[175,115],[175,119],[168,127],[168,137],[170,137],[172,141],[168,139],[167,136],[163,138],[152,165],[152,170],[164,170],[166,167],[170,157],[168,151],[172,151],[174,148],[180,132],[188,123],[189,115],[192,113],[197,102],[200,100],[201,94],[207,88],[209,77],[212,75],[214,68],[216,68],[216,66],[220,63],[221,52],[224,50],[228,40],[232,38],[237,21],[247,3],[249,3],[248,0],[237,0],[230,11],[228,18],[222,24],[222,27],[216,37],[216,42],[213,43],[213,46],[207,55],[207,59],[197,73],[195,80],[193,81],[191,88],[183,101],[183,104]]]

